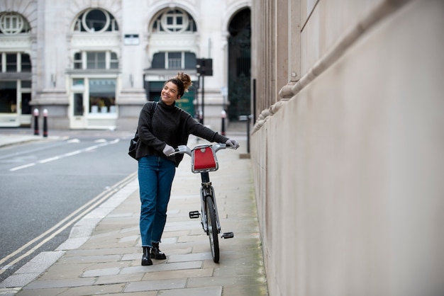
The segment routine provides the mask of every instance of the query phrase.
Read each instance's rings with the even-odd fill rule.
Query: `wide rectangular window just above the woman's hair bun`
[[[194,69],[196,55],[192,52],[157,52],[152,57],[152,69]]]

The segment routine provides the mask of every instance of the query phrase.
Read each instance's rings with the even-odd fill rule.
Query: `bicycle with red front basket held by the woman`
[[[216,195],[211,185],[209,172],[217,171],[218,160],[216,152],[221,149],[231,148],[226,144],[200,144],[190,149],[186,145],[177,147],[174,154],[188,154],[192,160],[192,172],[201,174],[201,211],[189,212],[190,219],[201,217],[202,228],[209,236],[211,246],[211,256],[213,261],[219,261],[219,241],[218,234],[223,239],[231,239],[234,237],[233,232],[221,232],[221,223],[219,222],[218,210],[216,205]],[[234,149],[234,148],[231,148]]]

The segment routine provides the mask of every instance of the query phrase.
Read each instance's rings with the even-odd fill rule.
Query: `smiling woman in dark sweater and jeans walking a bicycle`
[[[140,190],[140,236],[142,237],[142,265],[152,265],[151,258],[166,259],[159,243],[167,221],[167,205],[176,167],[183,154],[170,156],[174,148],[186,145],[189,135],[210,142],[226,143],[238,148],[230,140],[194,120],[189,113],[175,106],[175,102],[192,85],[188,74],[178,73],[165,82],[159,103],[145,103],[140,111],[137,152]]]

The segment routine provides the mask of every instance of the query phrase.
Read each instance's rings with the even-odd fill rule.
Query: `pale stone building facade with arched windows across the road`
[[[218,129],[228,105],[233,18],[251,0],[0,0],[0,127],[133,129],[141,106],[183,71],[179,106]],[[204,80],[197,59],[212,59]]]

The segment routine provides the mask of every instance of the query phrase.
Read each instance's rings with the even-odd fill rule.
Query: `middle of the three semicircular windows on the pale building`
[[[118,31],[116,18],[103,9],[91,8],[80,14],[74,32],[101,33]]]

